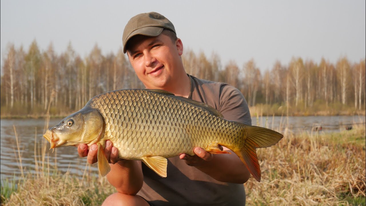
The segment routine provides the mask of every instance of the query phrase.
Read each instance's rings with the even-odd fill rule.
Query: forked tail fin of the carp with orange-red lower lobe
[[[244,125],[244,143],[237,148],[236,155],[247,166],[255,180],[261,181],[261,169],[259,167],[256,148],[270,147],[279,142],[283,135],[271,129]]]

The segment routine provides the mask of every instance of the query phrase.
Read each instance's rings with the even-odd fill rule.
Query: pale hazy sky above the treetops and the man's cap
[[[116,54],[128,20],[150,11],[174,24],[184,48],[208,58],[216,52],[223,66],[253,58],[264,71],[292,57],[336,63],[347,56],[353,63],[366,54],[365,0],[1,0],[0,8],[1,66],[7,43],[28,51],[34,39],[41,51],[52,42],[57,54],[69,41],[82,58],[95,44]]]

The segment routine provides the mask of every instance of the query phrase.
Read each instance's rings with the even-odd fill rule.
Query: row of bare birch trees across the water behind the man
[[[264,115],[365,115],[365,59],[294,57],[286,64],[274,62],[263,74],[254,59],[242,66],[234,61],[222,65],[216,53],[207,57],[188,50],[182,60],[188,74],[227,82]],[[8,44],[0,85],[1,117],[40,117],[49,106],[51,115],[65,115],[100,93],[144,88],[122,48],[103,55],[96,44],[82,58],[71,43],[56,54],[52,43],[41,51],[35,40],[28,51]]]

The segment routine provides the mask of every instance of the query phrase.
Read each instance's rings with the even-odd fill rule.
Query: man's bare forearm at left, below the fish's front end
[[[107,179],[118,192],[135,195],[142,188],[141,161],[123,160],[111,165]]]

